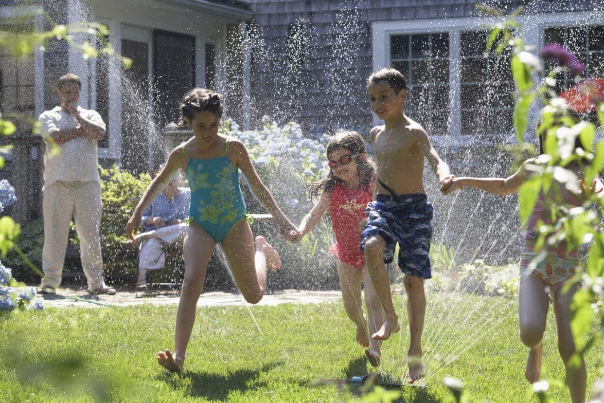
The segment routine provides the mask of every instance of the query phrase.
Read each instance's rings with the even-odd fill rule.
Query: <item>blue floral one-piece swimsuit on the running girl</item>
[[[188,156],[187,178],[191,188],[189,216],[214,238],[222,242],[228,231],[242,218],[246,218],[245,202],[239,186],[239,169],[225,152],[216,158],[191,158]]]

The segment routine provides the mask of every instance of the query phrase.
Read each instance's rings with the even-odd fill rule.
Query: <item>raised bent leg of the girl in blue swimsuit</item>
[[[240,220],[222,241],[222,250],[231,267],[233,278],[243,298],[251,304],[259,303],[266,289],[266,265],[278,268],[279,255],[262,236],[255,239],[245,219]]]

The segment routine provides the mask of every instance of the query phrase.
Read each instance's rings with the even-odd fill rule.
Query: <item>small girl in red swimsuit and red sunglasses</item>
[[[319,201],[306,214],[298,227],[297,242],[312,231],[329,209],[336,243],[329,253],[337,260],[344,309],[356,324],[356,341],[365,347],[365,355],[372,366],[379,366],[380,343],[369,335],[382,326],[382,307],[365,266],[361,251],[361,221],[365,222],[365,207],[376,193],[375,166],[367,158],[365,141],[357,132],[339,132],[327,144],[329,174],[327,178],[310,184],[311,198],[321,193]],[[365,285],[365,305],[368,324],[363,315],[361,284]],[[368,328],[367,328],[368,325]]]

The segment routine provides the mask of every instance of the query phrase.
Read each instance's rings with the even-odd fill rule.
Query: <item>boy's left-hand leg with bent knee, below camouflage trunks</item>
[[[390,276],[384,264],[384,248],[386,242],[381,236],[372,236],[365,241],[365,260],[367,269],[371,276],[371,282],[375,288],[377,299],[379,299],[386,314],[386,320],[382,327],[371,336],[376,340],[387,340],[391,333],[400,330],[399,317],[394,311],[392,294],[390,292]]]

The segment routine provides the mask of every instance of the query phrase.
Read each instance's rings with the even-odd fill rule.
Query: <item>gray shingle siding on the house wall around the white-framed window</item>
[[[255,102],[259,103],[253,109],[260,111],[254,118],[269,114],[283,121],[297,120],[307,131],[350,127],[352,122],[362,122],[365,128],[369,127],[371,114],[365,100],[364,82],[373,69],[371,24],[374,21],[477,16],[475,5],[478,3],[473,0],[253,2],[251,11],[262,27],[262,37],[272,59],[260,62],[254,68],[256,73],[252,80],[260,82],[252,83]],[[549,12],[585,11],[603,5],[604,1],[561,0],[555,5],[553,2],[516,0],[487,3],[496,4],[508,12],[524,5],[525,13],[538,13],[544,12],[544,4]],[[291,25],[300,19],[308,24],[310,39],[304,55],[306,62],[297,77],[292,79],[286,77],[289,71],[287,36]],[[346,46],[338,45],[338,40]],[[335,85],[338,81],[339,85]],[[294,86],[292,82],[296,83],[296,88],[290,87]],[[344,89],[344,83],[355,88]],[[334,119],[316,108],[315,97],[321,92],[325,94],[326,88],[332,102],[322,108],[341,111],[341,118]],[[346,91],[353,96],[342,105],[335,102],[338,91]],[[292,98],[299,102],[295,114],[280,108],[289,105]]]

